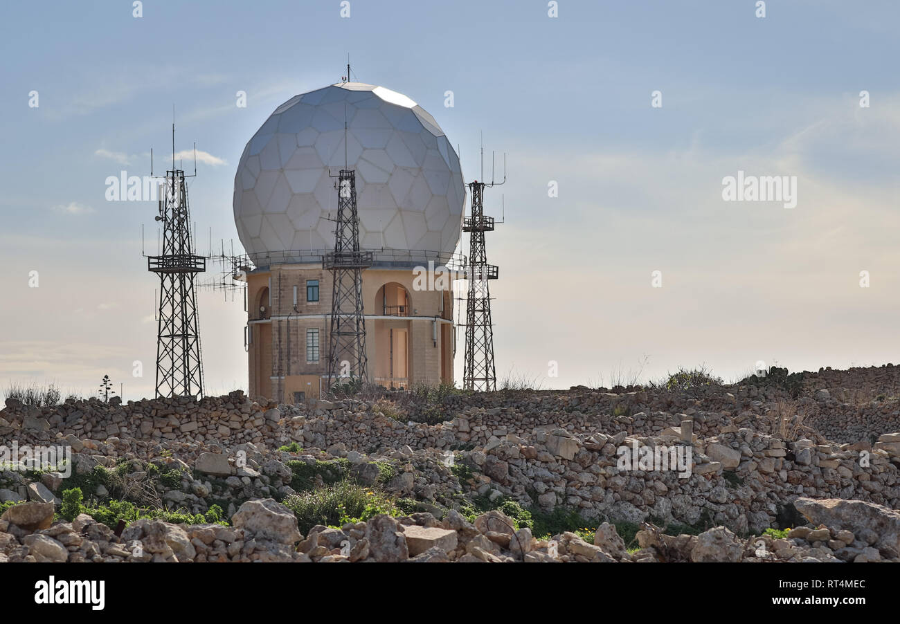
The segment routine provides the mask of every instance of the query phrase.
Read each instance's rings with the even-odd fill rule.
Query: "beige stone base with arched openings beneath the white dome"
[[[367,377],[386,388],[453,383],[453,292],[422,289],[416,277],[410,268],[363,272]],[[320,264],[274,264],[247,275],[251,397],[284,403],[320,397],[331,294],[331,272]]]

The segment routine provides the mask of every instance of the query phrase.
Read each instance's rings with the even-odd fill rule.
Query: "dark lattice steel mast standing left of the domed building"
[[[206,271],[206,259],[193,253],[184,171],[173,167],[166,172],[165,180],[156,218],[163,224],[161,255],[148,257],[148,271],[157,273],[162,282],[157,331],[157,397],[202,397],[203,368],[194,277]]]

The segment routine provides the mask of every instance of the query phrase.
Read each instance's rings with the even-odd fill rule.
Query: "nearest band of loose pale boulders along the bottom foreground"
[[[670,536],[647,525],[628,548],[612,524],[601,524],[592,543],[572,532],[536,539],[498,511],[474,522],[455,511],[443,521],[377,515],[339,529],[316,526],[304,538],[293,513],[264,499],[241,505],[230,527],[141,519],[117,535],[85,514],[53,522],[52,504],[32,502],[0,519],[0,562],[900,562],[900,513],[838,499],[797,504],[809,524],[785,539],[739,539],[725,527]]]

